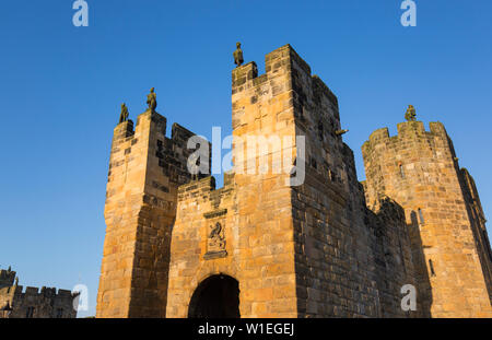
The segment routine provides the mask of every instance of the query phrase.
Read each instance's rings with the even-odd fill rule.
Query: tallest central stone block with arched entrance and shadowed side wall
[[[178,188],[167,317],[405,316],[403,213],[365,208],[337,97],[286,45],[233,71],[232,107],[235,173]]]

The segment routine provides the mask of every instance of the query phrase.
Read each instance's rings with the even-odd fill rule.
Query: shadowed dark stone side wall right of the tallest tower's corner
[[[402,214],[388,203],[367,211],[338,99],[291,54],[296,133],[306,137],[305,183],[292,187],[298,316],[406,316],[400,289],[413,268]]]

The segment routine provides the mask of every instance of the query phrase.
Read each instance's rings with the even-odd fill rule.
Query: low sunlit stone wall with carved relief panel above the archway
[[[167,317],[187,317],[192,293],[208,277],[238,277],[241,246],[233,180],[233,177],[226,179],[224,187],[215,190],[214,178],[207,177],[178,189]],[[209,244],[209,235],[218,223],[222,228],[219,235],[221,243]]]

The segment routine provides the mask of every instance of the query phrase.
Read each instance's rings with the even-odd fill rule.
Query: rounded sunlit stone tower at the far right
[[[426,316],[491,317],[492,254],[473,179],[460,169],[441,122],[373,132],[362,146],[366,199],[399,203],[411,235]]]

